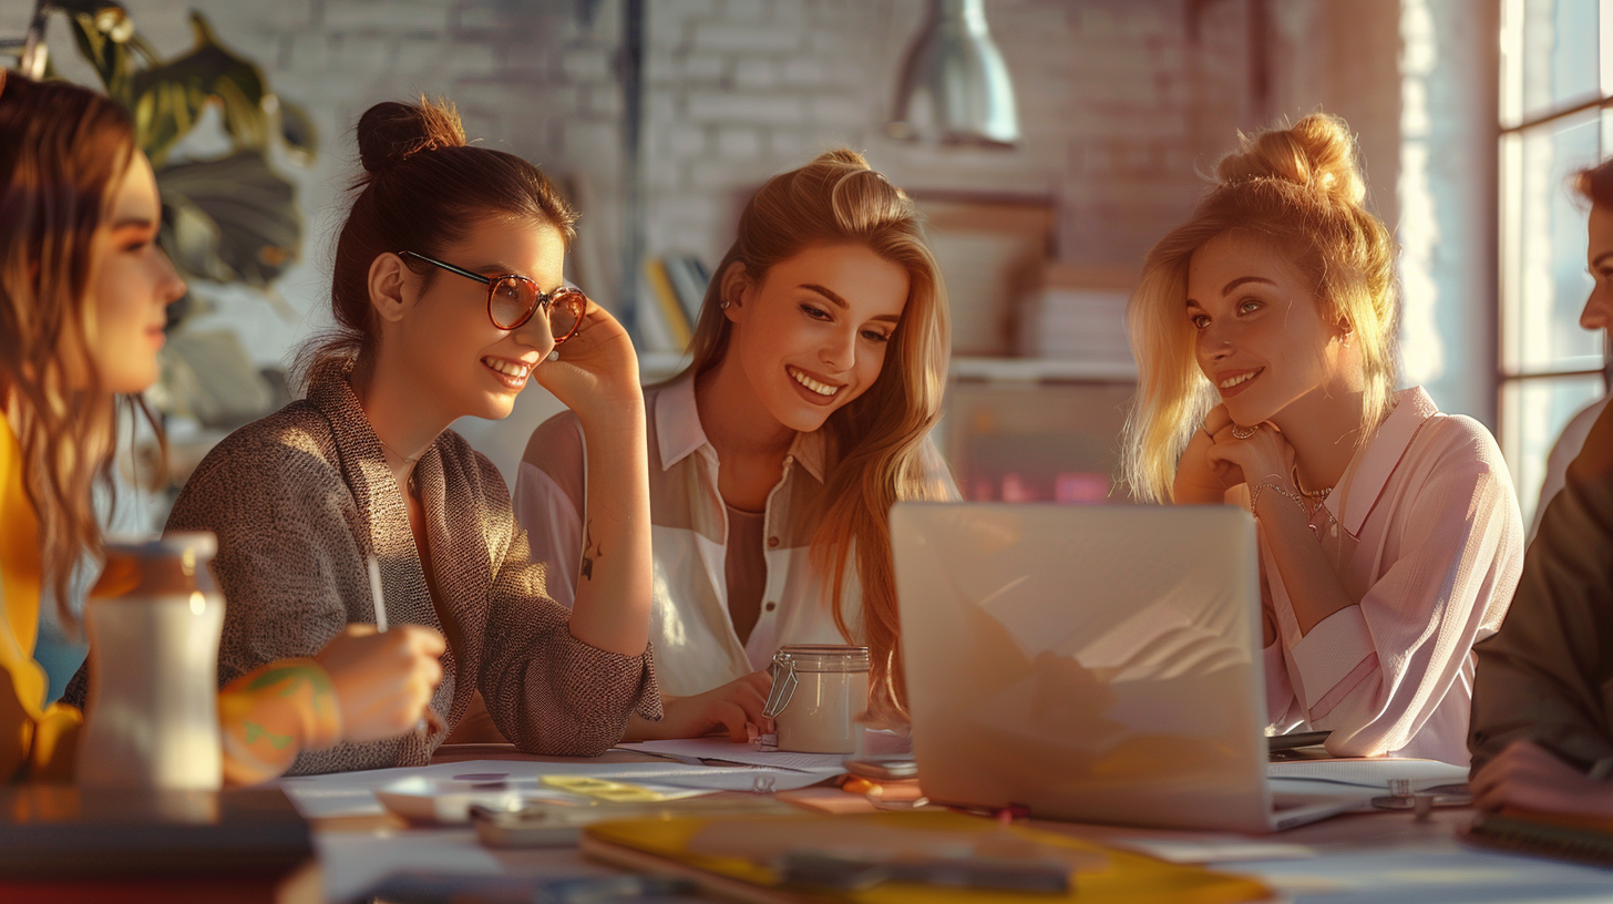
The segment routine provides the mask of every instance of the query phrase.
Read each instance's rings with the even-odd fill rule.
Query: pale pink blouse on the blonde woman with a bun
[[[1357,604],[1300,636],[1261,539],[1277,620],[1265,651],[1268,712],[1277,731],[1331,730],[1334,755],[1465,765],[1473,644],[1507,615],[1523,568],[1523,518],[1484,425],[1440,413],[1421,387],[1394,400],[1311,517]]]

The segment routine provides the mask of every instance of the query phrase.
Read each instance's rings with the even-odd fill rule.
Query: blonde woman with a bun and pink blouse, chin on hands
[[[1523,563],[1507,463],[1478,421],[1395,391],[1395,247],[1342,119],[1247,136],[1216,174],[1126,312],[1126,476],[1253,512],[1274,731],[1466,764],[1471,647]]]

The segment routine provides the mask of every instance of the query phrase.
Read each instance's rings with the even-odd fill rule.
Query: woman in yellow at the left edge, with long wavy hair
[[[161,249],[152,165],[127,116],[63,82],[0,69],[0,776],[65,780],[82,714],[45,705],[32,660],[44,592],[77,625],[68,578],[102,552],[116,408],[156,379],[163,308],[184,294]],[[153,421],[155,426],[155,421]],[[442,673],[432,631],[344,631],[219,693],[224,780],[305,749],[415,725]],[[266,675],[274,668],[274,675]],[[255,686],[268,684],[268,686]],[[289,704],[289,705],[287,705]]]

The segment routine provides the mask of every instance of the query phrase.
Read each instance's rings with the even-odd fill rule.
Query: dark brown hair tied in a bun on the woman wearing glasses
[[[460,115],[445,100],[376,103],[358,119],[365,173],[336,241],[331,308],[336,329],[297,355],[294,384],[340,375],[374,347],[369,265],[403,250],[437,255],[479,220],[503,216],[560,231],[569,247],[577,215],[537,168],[513,153],[469,147]],[[427,281],[436,268],[405,263]]]

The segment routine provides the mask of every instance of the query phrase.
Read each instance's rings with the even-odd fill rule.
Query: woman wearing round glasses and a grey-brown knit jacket
[[[298,360],[306,399],[224,439],[168,521],[218,534],[219,678],[308,655],[384,604],[392,625],[447,636],[437,723],[303,754],[294,773],[426,764],[477,691],[523,751],[597,755],[629,714],[660,715],[632,344],[561,278],[574,213],[553,184],[515,155],[468,147],[452,107],[377,103],[358,121],[358,150],[337,326]],[[508,416],[527,379],[576,412],[600,475],[569,612],[531,562],[498,470],[447,429]]]

